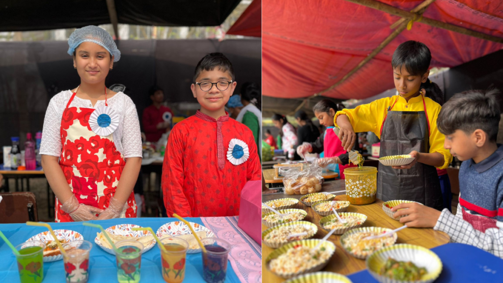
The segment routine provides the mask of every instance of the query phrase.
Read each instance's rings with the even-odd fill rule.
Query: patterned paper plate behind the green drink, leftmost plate
[[[83,240],[84,237],[80,235],[80,233],[71,231],[71,230],[54,230],[54,234],[58,238],[61,245],[77,240]],[[28,241],[42,241],[45,242],[46,248],[44,249],[44,262],[52,262],[63,259],[63,255],[61,254],[61,250],[58,245],[54,241],[54,237],[52,237],[51,232],[45,231],[40,234],[37,234]]]

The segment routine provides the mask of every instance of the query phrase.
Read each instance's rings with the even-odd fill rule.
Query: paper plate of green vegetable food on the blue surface
[[[366,265],[381,283],[430,283],[442,272],[442,261],[437,254],[410,244],[382,248],[367,258]]]

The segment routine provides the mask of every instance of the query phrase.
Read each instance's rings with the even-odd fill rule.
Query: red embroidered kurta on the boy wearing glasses
[[[227,159],[233,138],[249,149],[248,159],[240,165]],[[247,181],[261,178],[253,133],[228,115],[215,120],[198,111],[173,127],[162,166],[168,217],[239,215],[241,189]]]

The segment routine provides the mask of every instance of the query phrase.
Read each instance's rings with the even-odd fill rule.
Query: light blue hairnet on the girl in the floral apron
[[[103,46],[110,54],[114,56],[114,62],[121,58],[121,51],[117,49],[114,39],[104,29],[97,26],[87,26],[81,29],[76,29],[68,39],[68,54],[73,55],[75,48],[82,42],[93,42]]]

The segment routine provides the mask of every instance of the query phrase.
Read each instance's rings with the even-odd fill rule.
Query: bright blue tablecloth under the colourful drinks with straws
[[[186,218],[186,220],[203,225],[200,218]],[[104,229],[118,224],[136,224],[142,227],[151,227],[154,231],[157,231],[157,229],[163,224],[173,221],[178,220],[175,218],[130,218],[90,222],[100,224]],[[52,223],[51,227],[54,230],[69,229],[76,231],[82,234],[85,240],[88,240],[93,244],[89,259],[90,276],[88,282],[117,282],[115,256],[105,252],[94,242],[96,232],[99,232],[98,229],[83,226],[81,222]],[[7,236],[9,241],[16,246],[38,233],[47,231],[47,229],[43,227],[27,226],[26,224],[2,224],[0,225],[0,231],[2,231]],[[0,282],[19,282],[16,257],[2,239],[0,239],[0,258]],[[204,282],[202,272],[203,264],[201,253],[187,254],[184,282]],[[64,277],[63,260],[44,262],[44,282],[66,282]],[[160,252],[157,246],[147,251],[141,257],[140,282],[164,282],[161,273]],[[227,278],[225,279],[225,282],[240,282],[236,273],[232,270],[230,263],[227,264]]]

